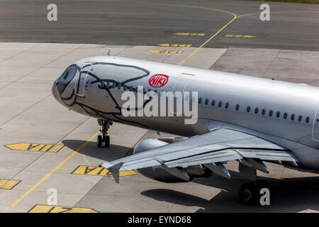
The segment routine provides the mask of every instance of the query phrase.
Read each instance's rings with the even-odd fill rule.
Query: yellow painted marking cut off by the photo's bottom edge
[[[91,208],[72,206],[35,205],[28,213],[99,213]]]

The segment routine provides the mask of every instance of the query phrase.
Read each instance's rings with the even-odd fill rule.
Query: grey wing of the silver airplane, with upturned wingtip
[[[218,175],[230,178],[223,162],[237,160],[243,165],[267,172],[262,160],[291,162],[298,160],[289,150],[254,135],[218,128],[203,135],[179,140],[146,150],[142,153],[123,157],[112,162],[104,162],[105,167],[118,182],[118,171],[137,170],[145,167],[162,167],[182,179],[188,179],[184,167],[205,165]]]

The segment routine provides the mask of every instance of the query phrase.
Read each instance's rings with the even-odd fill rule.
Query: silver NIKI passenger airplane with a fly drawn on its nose
[[[178,116],[175,99],[174,116],[123,116],[123,94],[138,94],[139,87],[142,94],[197,94],[188,97],[198,106],[196,121],[186,124],[187,117]],[[224,164],[235,160],[239,172],[252,179],[240,188],[240,199],[256,204],[260,189],[270,188],[257,179],[257,170],[269,173],[264,162],[319,170],[318,87],[107,55],[74,62],[54,82],[52,94],[68,109],[97,119],[99,148],[109,147],[113,122],[184,137],[146,138],[133,155],[101,164],[116,182],[121,170],[160,182],[213,174],[230,179]],[[133,111],[145,109],[147,101]]]

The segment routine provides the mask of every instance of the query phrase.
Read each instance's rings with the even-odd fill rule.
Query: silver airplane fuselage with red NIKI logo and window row
[[[52,87],[57,101],[72,111],[184,136],[232,128],[281,145],[301,167],[319,170],[318,87],[125,57],[86,57],[74,65],[74,77],[65,83],[58,79]],[[151,87],[155,74],[168,75],[167,84]],[[105,89],[107,83],[115,87]],[[121,95],[138,86],[198,92],[197,123],[184,124],[181,116],[121,116]]]

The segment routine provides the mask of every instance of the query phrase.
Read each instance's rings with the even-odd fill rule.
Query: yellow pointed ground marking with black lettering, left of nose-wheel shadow
[[[58,152],[64,145],[44,144],[44,143],[13,143],[4,145],[11,150],[28,150],[42,152]]]

